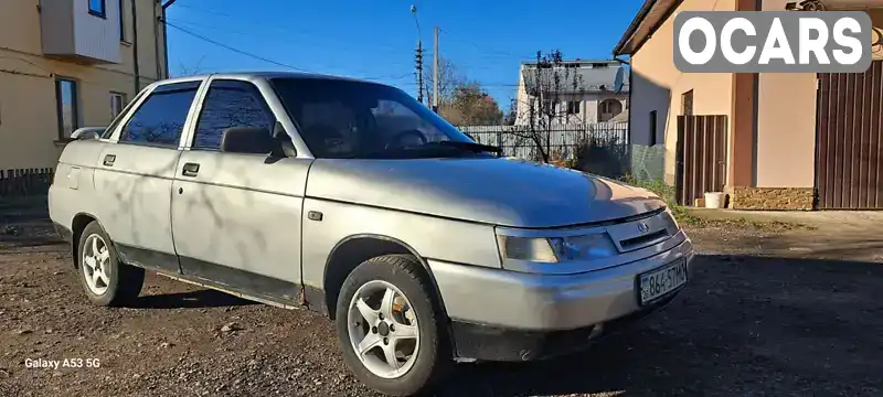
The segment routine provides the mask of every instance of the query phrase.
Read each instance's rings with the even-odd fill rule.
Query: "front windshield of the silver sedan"
[[[276,78],[272,85],[316,158],[482,157],[493,149],[397,88],[329,78]]]

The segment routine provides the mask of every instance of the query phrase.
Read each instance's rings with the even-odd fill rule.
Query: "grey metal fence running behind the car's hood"
[[[460,131],[479,143],[492,144],[503,150],[503,155],[525,160],[542,158],[529,126],[461,126]],[[549,133],[546,144],[545,135]],[[591,139],[599,139],[608,144],[628,144],[628,122],[598,122],[555,126],[549,132],[540,133],[543,147],[556,158],[573,159],[582,146]]]

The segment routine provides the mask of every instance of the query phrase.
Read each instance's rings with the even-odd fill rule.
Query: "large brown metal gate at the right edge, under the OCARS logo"
[[[883,208],[883,61],[818,77],[817,207]]]

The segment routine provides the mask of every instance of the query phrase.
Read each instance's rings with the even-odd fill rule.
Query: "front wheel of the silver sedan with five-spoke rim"
[[[375,286],[392,286],[392,288],[387,288],[386,291],[396,291],[394,292],[395,298],[393,298],[392,301],[400,302],[398,307],[402,309],[396,312],[396,304],[393,303],[392,319],[386,319],[387,323],[391,324],[385,328],[387,332],[386,335],[390,335],[390,344],[386,343],[382,325],[370,326],[372,331],[364,331],[362,342],[368,340],[369,332],[373,332],[379,336],[383,336],[383,345],[379,343],[376,348],[362,355],[357,352],[357,344],[360,341],[354,343],[353,340],[358,339],[358,336],[361,335],[360,331],[365,330],[366,326],[357,325],[358,321],[352,320],[353,316],[361,320],[366,320],[368,318],[361,316],[362,312],[360,308],[358,308],[355,303],[357,300],[354,300],[353,297],[355,297],[357,293],[360,293],[360,297],[362,297],[361,293],[363,292],[360,291],[365,290],[369,286],[371,286],[371,288]],[[384,292],[380,291],[379,293]],[[400,299],[400,297],[403,299]],[[368,302],[368,300],[365,300],[365,302]],[[382,300],[380,304],[377,304],[379,321],[384,320],[382,315],[383,302],[385,302],[385,300]],[[373,307],[369,309],[373,310]],[[354,310],[352,314],[351,310]],[[416,320],[416,326],[413,326],[415,325],[413,321],[404,319],[404,316],[408,314],[408,318]],[[369,259],[359,265],[343,282],[338,298],[336,313],[338,340],[343,351],[343,358],[347,365],[359,380],[377,391],[391,396],[411,396],[425,393],[440,378],[446,376],[454,364],[450,344],[448,342],[449,337],[447,334],[445,314],[440,310],[440,304],[434,293],[432,281],[424,271],[423,266],[412,256],[385,255]],[[396,319],[397,316],[401,318]],[[403,319],[404,321],[400,321]],[[365,323],[368,323],[368,321],[365,321]],[[400,325],[397,331],[394,328],[396,324]],[[411,331],[405,332],[414,332],[413,329],[416,329],[414,334],[417,335],[417,339],[415,341],[398,339],[398,336],[396,336],[396,332],[403,332],[402,329],[408,330],[408,328],[411,328]],[[380,330],[373,331],[374,329]],[[353,337],[353,333],[359,335]],[[389,364],[387,355],[383,358],[377,357],[377,361],[374,361],[374,358],[370,356],[371,354],[377,356],[383,355],[386,353],[386,346],[392,345],[394,351],[393,355],[395,356],[398,354],[395,352],[395,346],[400,344],[411,344],[411,346],[405,347],[412,348],[411,356],[413,362],[411,358],[403,357],[404,363],[401,363],[401,369],[404,369],[404,373],[394,377],[381,376],[370,368],[380,365],[375,363],[377,361]],[[413,344],[416,344],[416,347],[414,347]],[[397,357],[394,360],[396,363],[400,363]],[[375,365],[371,366],[370,364],[372,363]]]

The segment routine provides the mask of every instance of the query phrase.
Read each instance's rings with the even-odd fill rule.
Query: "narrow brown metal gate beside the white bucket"
[[[726,116],[678,116],[674,190],[678,204],[693,205],[726,183]]]

